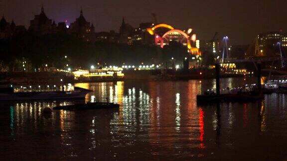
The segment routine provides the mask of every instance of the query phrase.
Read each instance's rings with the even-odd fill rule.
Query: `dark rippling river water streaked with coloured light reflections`
[[[242,85],[225,79],[222,86]],[[66,101],[0,102],[0,160],[284,160],[287,95],[197,105],[214,80],[82,83],[120,109],[53,111]],[[208,100],[206,100],[208,101]]]

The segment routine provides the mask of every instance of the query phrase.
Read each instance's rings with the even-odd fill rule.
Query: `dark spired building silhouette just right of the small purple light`
[[[86,20],[82,9],[80,16],[69,26],[69,32],[85,41],[95,41],[95,27]]]

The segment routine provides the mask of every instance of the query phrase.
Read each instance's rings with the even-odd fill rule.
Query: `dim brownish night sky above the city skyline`
[[[199,39],[210,40],[219,32],[231,44],[249,44],[258,32],[287,32],[287,0],[0,0],[7,21],[29,25],[43,2],[47,16],[56,22],[73,22],[80,8],[96,32],[119,30],[122,17],[134,27],[159,22],[175,28],[193,28]]]

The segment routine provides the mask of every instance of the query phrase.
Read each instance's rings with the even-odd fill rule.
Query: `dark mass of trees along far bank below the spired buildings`
[[[65,57],[67,56],[67,57]],[[24,32],[0,40],[0,72],[37,71],[48,67],[89,68],[91,65],[139,65],[181,62],[186,47],[170,43],[163,49],[153,45],[87,42],[65,33],[41,35]],[[24,63],[24,67],[23,67]]]

